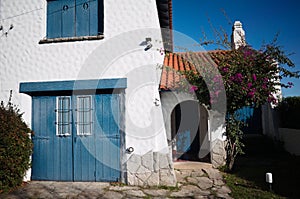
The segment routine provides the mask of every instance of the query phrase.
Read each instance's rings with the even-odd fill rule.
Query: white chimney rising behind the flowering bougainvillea
[[[246,46],[245,31],[243,30],[242,23],[235,21],[232,27],[231,48],[236,50],[241,46]]]

